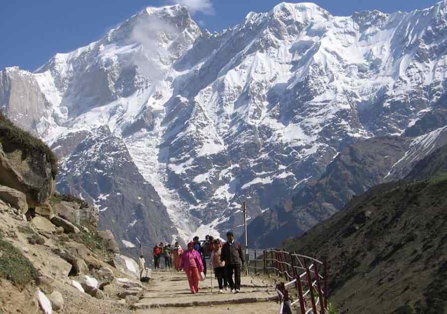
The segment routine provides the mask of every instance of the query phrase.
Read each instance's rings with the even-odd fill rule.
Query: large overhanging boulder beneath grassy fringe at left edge
[[[43,151],[32,154],[2,138],[0,143],[0,185],[25,194],[31,208],[45,203],[55,190],[54,170]]]

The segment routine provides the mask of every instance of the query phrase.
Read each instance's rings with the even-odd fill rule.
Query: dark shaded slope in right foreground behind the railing
[[[330,298],[340,313],[446,313],[446,158],[444,146],[406,181],[373,187],[285,243],[327,256]]]

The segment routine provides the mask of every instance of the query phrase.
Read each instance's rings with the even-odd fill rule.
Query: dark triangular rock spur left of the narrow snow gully
[[[135,242],[138,237],[149,246],[176,233],[153,186],[108,127],[93,130],[62,160],[61,167],[66,172],[59,178],[58,189],[94,203],[99,208],[99,229],[111,230],[121,250],[127,249],[122,239]],[[115,243],[106,241],[108,249],[117,252]],[[134,248],[128,251],[136,254]]]

